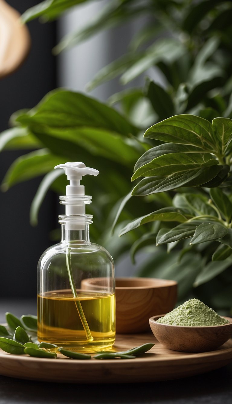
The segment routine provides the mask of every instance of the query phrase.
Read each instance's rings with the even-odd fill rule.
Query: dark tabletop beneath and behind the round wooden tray
[[[0,323],[6,311],[36,314],[36,302],[0,301]],[[154,383],[79,385],[0,376],[0,404],[5,403],[231,404],[232,363],[202,375]]]

